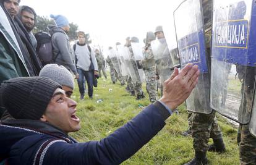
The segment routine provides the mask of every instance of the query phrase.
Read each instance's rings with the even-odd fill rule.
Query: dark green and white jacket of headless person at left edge
[[[17,33],[13,30],[11,15],[0,3],[0,83],[15,77],[29,75],[20,51]],[[6,109],[0,101],[0,117]]]

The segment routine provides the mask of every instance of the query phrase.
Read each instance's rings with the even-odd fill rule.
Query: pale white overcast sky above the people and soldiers
[[[146,33],[158,25],[163,25],[165,35],[174,38],[173,11],[181,1],[21,0],[20,5],[33,7],[41,16],[65,15],[69,22],[79,25],[79,30],[90,33],[95,42],[113,46],[117,41],[124,44],[127,36],[137,36],[142,42]],[[175,46],[176,40],[169,44]]]

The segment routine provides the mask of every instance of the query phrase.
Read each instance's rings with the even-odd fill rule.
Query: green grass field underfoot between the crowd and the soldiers
[[[79,142],[100,140],[114,132],[121,125],[132,119],[142,110],[142,106],[150,104],[148,95],[136,101],[119,83],[112,84],[99,79],[98,88],[94,89],[93,99],[79,100],[76,86],[72,97],[78,103],[78,116],[82,129],[71,133]],[[143,87],[145,92],[145,86]],[[103,102],[97,103],[98,99]],[[218,116],[223,131],[227,151],[223,154],[207,153],[210,164],[239,164],[239,149],[236,143],[237,130],[225,119]],[[147,145],[122,164],[184,164],[194,157],[192,137],[183,137],[181,132],[187,129],[187,111],[184,105],[179,107],[179,114],[173,114],[166,125]],[[212,143],[212,140],[210,140]]]

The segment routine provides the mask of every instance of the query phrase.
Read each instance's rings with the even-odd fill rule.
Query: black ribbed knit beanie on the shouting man
[[[61,85],[45,77],[19,77],[1,84],[0,98],[15,119],[38,120]]]

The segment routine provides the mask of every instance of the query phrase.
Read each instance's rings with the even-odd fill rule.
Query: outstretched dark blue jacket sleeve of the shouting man
[[[53,144],[43,164],[120,164],[148,143],[168,117],[167,109],[156,102],[98,142]]]

